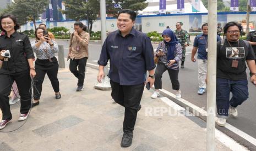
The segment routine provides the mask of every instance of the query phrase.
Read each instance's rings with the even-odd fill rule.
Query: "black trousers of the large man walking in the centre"
[[[138,85],[120,85],[110,81],[111,96],[121,106],[125,108],[123,131],[132,132],[137,119],[137,110],[144,90],[144,83]]]

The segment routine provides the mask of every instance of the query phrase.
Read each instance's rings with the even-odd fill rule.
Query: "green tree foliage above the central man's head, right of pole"
[[[146,0],[106,0],[107,14],[117,15],[121,9],[143,10],[148,7]]]

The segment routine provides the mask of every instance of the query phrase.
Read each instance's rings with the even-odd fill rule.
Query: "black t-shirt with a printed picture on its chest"
[[[228,44],[227,39],[222,47],[220,44],[221,41],[217,42],[217,78],[246,80],[246,60],[255,60],[252,46],[247,48],[243,40],[239,40],[239,45],[238,42]],[[233,60],[238,61],[237,68],[232,67]]]

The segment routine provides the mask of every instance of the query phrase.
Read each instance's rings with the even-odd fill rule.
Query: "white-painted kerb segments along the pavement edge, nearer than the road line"
[[[163,102],[165,102],[168,106],[175,109],[176,111],[186,110],[167,97],[161,97],[161,100]],[[206,129],[204,129],[204,128],[203,128],[203,130],[206,131]],[[246,147],[242,146],[241,144],[239,144],[238,142],[233,140],[231,137],[227,136],[225,133],[223,133],[217,129],[215,129],[215,138],[216,138],[216,140],[219,140],[222,144],[224,144],[226,147],[230,148],[231,150],[237,150],[237,151],[248,150]]]

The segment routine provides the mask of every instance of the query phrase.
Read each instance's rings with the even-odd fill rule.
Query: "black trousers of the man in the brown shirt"
[[[86,61],[87,57],[83,57],[81,59],[70,59],[69,62],[69,70],[78,78],[78,86],[84,85]]]

